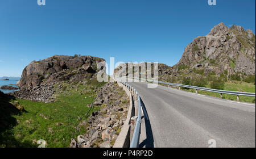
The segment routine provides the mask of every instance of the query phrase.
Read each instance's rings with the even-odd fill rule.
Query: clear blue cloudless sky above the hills
[[[223,22],[255,34],[255,0],[0,0],[0,77],[53,55],[175,65]]]

